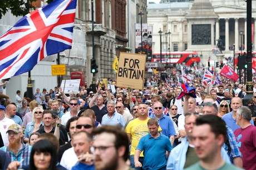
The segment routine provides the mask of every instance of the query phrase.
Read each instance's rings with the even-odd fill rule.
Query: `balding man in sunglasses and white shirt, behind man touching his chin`
[[[94,127],[95,127],[95,120],[93,120],[90,117],[80,116],[76,122],[76,128],[75,128],[75,131],[73,131],[73,133],[75,134],[76,132],[85,131],[91,134]],[[80,157],[82,156],[83,154],[80,154]],[[63,153],[60,164],[66,169],[72,169],[72,167],[75,166],[77,161],[78,161],[78,157],[76,156],[75,150],[72,147]]]

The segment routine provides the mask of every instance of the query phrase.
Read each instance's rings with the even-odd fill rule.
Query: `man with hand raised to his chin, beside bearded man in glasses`
[[[80,131],[73,134],[72,145],[78,158],[78,163],[72,167],[72,170],[95,169],[93,165],[93,155],[90,154],[91,142],[92,137],[90,133],[86,131]]]

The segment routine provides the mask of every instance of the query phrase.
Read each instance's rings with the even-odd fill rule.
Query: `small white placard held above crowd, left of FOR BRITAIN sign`
[[[65,84],[66,83],[66,84]],[[65,89],[64,89],[65,84]],[[65,94],[77,94],[79,91],[79,85],[80,85],[80,79],[74,79],[74,80],[62,80],[61,82],[61,88],[64,91]]]

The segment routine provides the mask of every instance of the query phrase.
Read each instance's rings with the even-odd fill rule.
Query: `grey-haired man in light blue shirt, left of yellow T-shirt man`
[[[107,102],[107,114],[102,117],[101,125],[125,126],[125,120],[121,114],[115,111],[115,102],[112,100]]]

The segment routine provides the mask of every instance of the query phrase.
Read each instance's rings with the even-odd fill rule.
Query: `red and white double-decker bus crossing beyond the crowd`
[[[152,53],[152,62],[160,62],[160,53]],[[200,63],[200,54],[197,51],[162,52],[162,63],[197,66]]]

